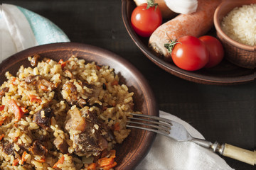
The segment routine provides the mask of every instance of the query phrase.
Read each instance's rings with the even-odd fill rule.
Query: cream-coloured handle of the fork
[[[225,157],[237,159],[238,161],[245,162],[247,164],[256,164],[256,151],[253,152],[247,149],[225,144],[223,155]]]

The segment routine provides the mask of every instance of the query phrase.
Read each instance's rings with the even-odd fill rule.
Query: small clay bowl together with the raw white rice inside
[[[217,36],[227,60],[239,67],[256,67],[255,1],[223,1],[214,13]]]

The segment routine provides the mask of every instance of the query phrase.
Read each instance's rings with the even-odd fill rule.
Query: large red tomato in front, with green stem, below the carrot
[[[203,68],[209,61],[206,45],[196,37],[187,35],[178,38],[171,52],[171,58],[176,66],[188,71]]]

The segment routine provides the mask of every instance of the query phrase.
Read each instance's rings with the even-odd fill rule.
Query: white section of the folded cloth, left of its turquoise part
[[[9,4],[3,4],[1,8],[0,29],[3,33],[1,33],[0,59],[38,45],[23,13],[16,6]]]

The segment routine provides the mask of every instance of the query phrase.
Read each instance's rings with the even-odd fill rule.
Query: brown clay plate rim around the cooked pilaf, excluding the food
[[[18,68],[30,66],[27,57],[39,54],[55,61],[68,60],[71,55],[85,59],[86,62],[109,65],[114,68],[115,73],[120,75],[121,83],[127,84],[129,91],[134,92],[134,110],[142,111],[147,115],[159,115],[156,99],[142,74],[122,57],[99,47],[84,45],[73,42],[55,43],[32,47],[28,50],[18,52],[0,64],[0,84],[6,81],[5,72],[16,74]],[[153,132],[132,129],[129,137],[122,145],[116,145],[117,166],[115,169],[134,169],[146,156],[156,135]]]

